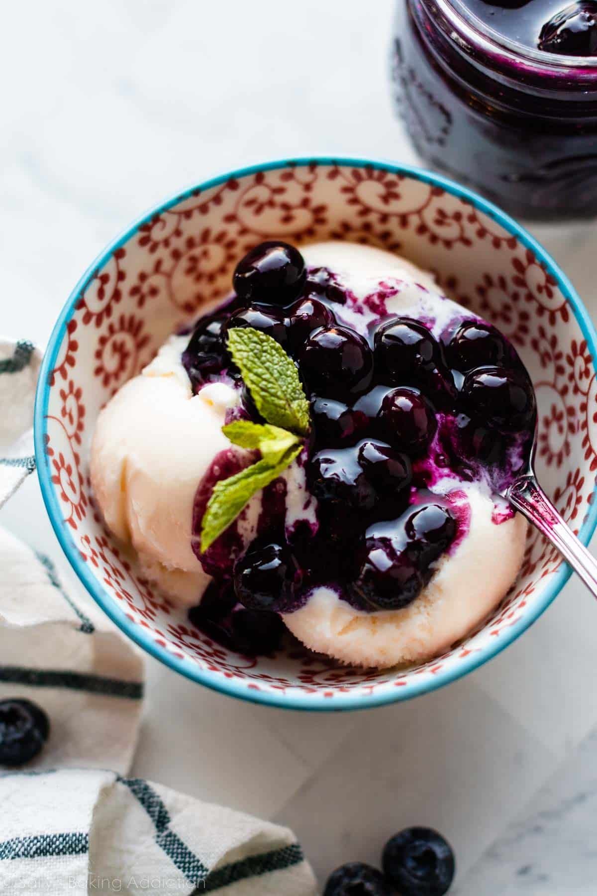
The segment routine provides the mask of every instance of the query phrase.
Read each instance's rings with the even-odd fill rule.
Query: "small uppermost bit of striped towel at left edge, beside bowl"
[[[0,340],[0,507],[35,470],[33,404],[41,352],[27,340]]]

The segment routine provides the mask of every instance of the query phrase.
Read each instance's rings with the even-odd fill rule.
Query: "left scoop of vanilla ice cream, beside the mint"
[[[238,393],[212,383],[193,395],[181,364],[185,337],[171,337],[141,375],[98,416],[91,444],[91,485],[107,526],[130,541],[143,572],[191,606],[209,577],[192,551],[197,486],[217,452],[226,409]]]

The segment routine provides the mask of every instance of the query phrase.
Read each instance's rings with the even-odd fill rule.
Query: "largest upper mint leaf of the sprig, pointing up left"
[[[252,327],[228,332],[228,349],[261,417],[296,435],[309,430],[309,402],[292,358],[267,333]]]

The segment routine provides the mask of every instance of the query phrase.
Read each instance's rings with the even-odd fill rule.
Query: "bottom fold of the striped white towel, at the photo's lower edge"
[[[3,896],[314,896],[291,831],[112,771],[0,777]]]

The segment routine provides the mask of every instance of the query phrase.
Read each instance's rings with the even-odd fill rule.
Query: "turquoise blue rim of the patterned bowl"
[[[98,271],[111,257],[116,249],[127,243],[139,230],[141,225],[148,223],[155,215],[162,211],[172,208],[178,202],[190,198],[196,194],[198,190],[201,192],[211,187],[225,184],[231,178],[241,179],[257,174],[260,171],[272,171],[283,168],[305,167],[310,164],[318,166],[337,165],[341,168],[374,168],[376,170],[388,171],[394,175],[404,175],[414,180],[422,181],[424,184],[439,186],[446,190],[447,193],[453,194],[466,202],[470,202],[476,209],[488,215],[495,220],[501,227],[505,228],[512,236],[530,249],[535,257],[537,257],[550,274],[558,281],[559,289],[567,298],[570,306],[574,310],[576,321],[578,322],[584,339],[587,341],[588,349],[592,358],[597,358],[597,333],[593,327],[593,323],[587,313],[580,297],[576,293],[576,289],[567,279],[566,274],[560,270],[559,265],[553,261],[550,254],[523,228],[516,220],[510,218],[506,212],[501,211],[492,202],[482,199],[481,196],[473,193],[465,186],[456,184],[455,181],[448,177],[435,174],[422,168],[414,168],[408,165],[395,164],[390,160],[384,159],[352,159],[341,156],[314,156],[308,158],[297,159],[280,159],[262,164],[241,168],[240,170],[231,171],[226,175],[212,177],[198,185],[193,185],[183,193],[176,194],[173,198],[160,202],[150,211],[144,214],[140,219],[135,220],[132,225],[124,230],[119,237],[116,237],[108,246],[98,255],[96,260],[90,264],[85,271],[81,280],[72,290],[64,308],[55,323],[54,330],[48,340],[46,354],[41,365],[38,378],[38,388],[35,401],[34,415],[34,431],[35,431],[35,454],[38,460],[38,477],[46,504],[47,513],[49,515],[52,527],[55,531],[56,538],[60,542],[75,573],[81,579],[93,599],[96,600],[107,616],[117,625],[133,642],[138,644],[143,650],[156,659],[163,662],[167,667],[174,669],[186,678],[199,682],[214,691],[221,694],[237,697],[249,702],[261,703],[268,706],[277,706],[283,709],[307,710],[307,711],[346,711],[346,710],[364,710],[371,709],[375,706],[382,706],[387,703],[399,702],[402,700],[410,700],[421,694],[428,694],[437,690],[439,687],[449,685],[451,682],[462,678],[475,668],[481,667],[488,660],[495,657],[501,650],[504,650],[508,644],[516,641],[526,629],[533,625],[533,622],[542,615],[543,611],[550,606],[550,603],[559,594],[570,577],[571,570],[569,566],[563,563],[553,580],[550,582],[537,605],[533,607],[531,613],[520,619],[515,625],[503,633],[495,640],[487,650],[480,653],[472,653],[468,658],[458,662],[454,668],[443,672],[440,669],[435,676],[425,676],[420,682],[414,682],[413,685],[407,687],[391,687],[384,689],[380,694],[358,695],[348,692],[347,694],[335,694],[329,699],[323,694],[293,694],[286,696],[284,694],[273,694],[264,691],[253,690],[248,687],[246,682],[243,684],[236,683],[235,679],[228,679],[224,676],[214,676],[208,669],[202,669],[189,659],[178,659],[174,655],[167,652],[166,649],[160,648],[153,640],[153,637],[146,633],[140,625],[133,623],[132,620],[124,614],[120,607],[116,606],[115,600],[108,597],[107,592],[101,587],[95,576],[81,559],[78,547],[75,545],[70,533],[68,532],[60,511],[58,499],[55,489],[50,479],[49,464],[47,463],[47,455],[45,452],[45,435],[47,407],[50,394],[49,375],[55,366],[55,358],[64,338],[64,331],[67,323],[72,318],[75,307],[81,293],[88,285],[95,271]],[[597,525],[597,500],[594,500],[597,487],[593,487],[592,501],[589,504],[588,513],[581,527],[579,538],[586,545],[593,535],[595,526]],[[382,673],[383,674],[383,673]],[[391,672],[389,673],[391,674]]]

